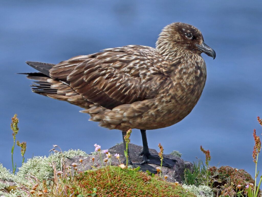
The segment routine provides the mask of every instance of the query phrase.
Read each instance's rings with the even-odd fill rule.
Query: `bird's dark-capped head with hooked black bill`
[[[168,59],[183,54],[205,53],[215,59],[216,53],[204,43],[201,32],[186,23],[172,23],[167,25],[159,35],[156,49]],[[173,56],[173,57],[172,57]]]

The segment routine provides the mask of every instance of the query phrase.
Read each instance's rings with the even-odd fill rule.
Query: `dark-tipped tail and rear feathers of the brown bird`
[[[30,72],[30,73],[19,73],[27,75],[28,79],[34,80],[31,85],[32,91],[47,96],[50,98],[54,98],[56,100],[67,101],[73,105],[77,105],[81,108],[84,108],[82,112],[89,113],[91,116],[90,120],[93,121],[102,121],[106,112],[111,110],[107,110],[104,107],[94,104],[86,100],[83,96],[78,94],[72,87],[70,87],[70,82],[63,79],[58,79],[54,76],[50,77],[49,70],[55,64],[47,64],[41,62],[26,62],[29,66],[40,72]],[[114,127],[110,127],[113,129]]]

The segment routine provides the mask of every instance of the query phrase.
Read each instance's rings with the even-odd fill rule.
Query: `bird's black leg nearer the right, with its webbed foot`
[[[143,151],[140,153],[140,155],[141,156],[143,155],[143,159],[144,159],[143,162],[141,162],[141,164],[151,163],[151,164],[161,165],[160,157],[158,155],[153,155],[149,152],[148,143],[146,139],[146,130],[140,129],[140,131],[141,131],[142,142],[143,142]],[[162,166],[172,168],[174,164],[176,164],[176,162],[177,160],[175,159],[169,159],[164,157],[162,161]]]

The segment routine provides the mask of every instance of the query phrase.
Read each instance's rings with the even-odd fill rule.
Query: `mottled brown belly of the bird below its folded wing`
[[[111,121],[111,128],[119,130],[127,130],[129,128],[137,129],[158,129],[176,124],[186,117],[194,108],[198,98],[194,101],[186,101],[179,103],[178,101],[162,101],[159,100],[145,100],[132,103],[126,107],[126,110],[121,114],[121,109],[112,110],[112,117],[121,118],[119,121]],[[120,108],[120,106],[119,106]],[[112,119],[111,119],[112,120]],[[101,124],[101,126],[103,126]],[[109,128],[108,126],[106,126]]]

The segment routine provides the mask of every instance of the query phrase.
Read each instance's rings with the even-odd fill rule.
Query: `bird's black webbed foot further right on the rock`
[[[143,151],[140,153],[140,155],[141,156],[143,155],[143,158],[144,158],[144,161],[141,162],[140,164],[151,163],[151,164],[161,165],[161,160],[158,155],[152,155],[150,153],[145,154]],[[176,162],[177,162],[176,159],[169,159],[169,158],[164,157],[162,166],[173,168]]]

